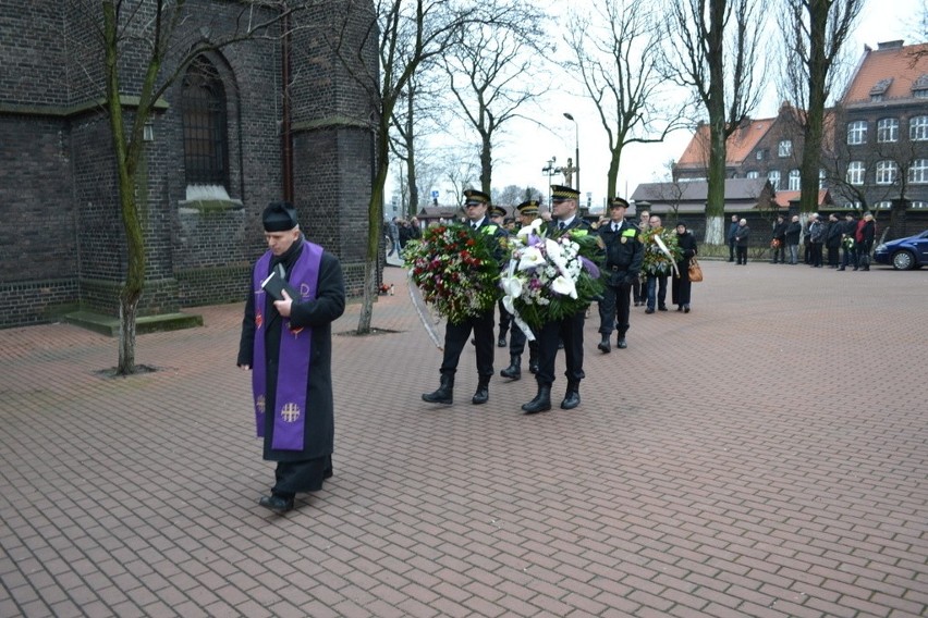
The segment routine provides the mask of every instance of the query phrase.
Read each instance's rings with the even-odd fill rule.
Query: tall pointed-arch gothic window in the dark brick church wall
[[[216,67],[197,57],[183,81],[184,170],[188,185],[228,183],[225,88]]]

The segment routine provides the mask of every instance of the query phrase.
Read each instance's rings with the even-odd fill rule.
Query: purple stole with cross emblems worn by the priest
[[[261,281],[267,276],[271,252],[267,251],[255,264],[252,275],[255,291],[255,357],[252,359],[252,390],[255,395],[255,422],[258,437],[265,435],[265,401],[267,400],[267,367],[265,360],[265,304],[266,295]],[[322,247],[303,240],[303,251],[293,264],[290,284],[300,289],[305,301],[316,298],[319,284],[319,264]],[[313,329],[291,329],[290,320],[283,318],[280,329],[280,358],[274,385],[273,438],[271,448],[279,450],[303,450],[306,429],[306,391],[309,382],[309,356]]]

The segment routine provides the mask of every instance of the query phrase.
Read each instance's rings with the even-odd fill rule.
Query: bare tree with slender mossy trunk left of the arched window
[[[106,101],[115,156],[120,214],[125,232],[127,269],[120,291],[120,336],[117,373],[135,373],[135,329],[145,287],[145,234],[141,213],[139,176],[144,170],[145,125],[156,106],[193,60],[202,53],[260,36],[280,36],[280,22],[302,9],[243,1],[229,29],[195,15],[184,0],[73,0],[90,33],[84,72]],[[192,28],[191,22],[200,25]],[[215,27],[212,27],[215,26]],[[271,32],[274,30],[274,32]],[[207,34],[205,35],[204,32]],[[83,41],[81,41],[83,44]],[[125,79],[122,72],[141,58],[142,76]],[[94,63],[99,62],[102,71]],[[129,86],[126,85],[129,84]],[[127,101],[132,104],[127,104]]]

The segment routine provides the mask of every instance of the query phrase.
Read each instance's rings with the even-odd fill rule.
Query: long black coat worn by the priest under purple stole
[[[301,240],[302,245],[302,240]],[[302,250],[302,247],[301,249]],[[295,251],[284,261],[288,277],[300,251]],[[273,263],[271,261],[271,263]],[[264,273],[262,273],[264,274]],[[245,302],[245,317],[242,321],[242,339],[239,344],[239,364],[252,367],[255,349],[255,295],[251,293]],[[303,450],[279,450],[271,448],[273,438],[277,368],[280,357],[280,336],[283,320],[269,299],[265,308],[268,321],[265,336],[265,362],[268,392],[265,415],[264,458],[271,461],[303,461],[331,455],[334,447],[334,401],[332,397],[332,322],[345,309],[345,287],[342,268],[338,258],[323,252],[319,264],[319,282],[316,298],[305,302],[294,301],[291,307],[290,323],[295,327],[312,327],[309,380],[306,392],[306,430]],[[254,359],[254,362],[261,359]]]

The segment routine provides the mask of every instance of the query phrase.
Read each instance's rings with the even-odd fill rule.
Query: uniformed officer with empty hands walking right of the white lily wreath
[[[606,246],[606,289],[599,301],[599,333],[602,341],[596,347],[605,354],[612,350],[609,338],[613,330],[619,331],[615,347],[627,347],[625,333],[628,332],[632,284],[638,279],[645,259],[645,246],[638,240],[638,227],[625,221],[627,208],[628,202],[623,198],[613,198],[609,207],[610,221],[599,227],[599,237]]]

